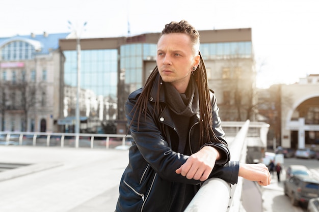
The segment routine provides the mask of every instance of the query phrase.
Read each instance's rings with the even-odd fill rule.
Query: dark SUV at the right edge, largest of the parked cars
[[[291,204],[307,205],[312,198],[319,197],[319,179],[307,175],[294,175],[284,181],[284,193]]]

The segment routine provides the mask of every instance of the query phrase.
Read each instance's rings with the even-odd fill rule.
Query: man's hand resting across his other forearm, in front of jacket
[[[204,181],[208,178],[216,160],[219,158],[220,155],[214,147],[204,146],[197,153],[191,155],[175,172],[188,179]]]

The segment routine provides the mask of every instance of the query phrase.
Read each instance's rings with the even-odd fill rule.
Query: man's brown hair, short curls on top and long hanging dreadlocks
[[[200,64],[197,67],[195,71],[193,71],[193,75],[198,87],[199,92],[199,113],[200,113],[200,139],[199,143],[200,145],[203,145],[204,143],[208,142],[211,136],[214,138],[216,142],[221,142],[215,135],[214,131],[212,130],[212,111],[211,111],[211,102],[210,102],[210,95],[209,95],[209,87],[208,87],[208,81],[207,81],[207,74],[206,74],[206,68],[204,64],[204,60],[202,59],[201,53],[199,51],[199,33],[196,31],[196,29],[189,24],[185,20],[181,20],[180,22],[174,22],[172,21],[169,24],[165,25],[165,28],[162,31],[162,35],[164,34],[170,34],[170,33],[184,33],[191,37],[191,41],[193,43],[193,50],[196,51],[196,54],[198,53],[200,55]],[[161,38],[161,36],[159,38]],[[195,54],[194,54],[195,55]],[[155,84],[155,79],[158,75],[158,69],[157,66],[154,68],[154,70],[151,72],[149,77],[147,78],[145,85],[143,87],[142,93],[137,100],[135,106],[132,108],[131,113],[134,112],[133,118],[138,115],[138,129],[139,129],[139,123],[142,113],[145,115],[147,114],[147,103],[150,96],[150,92],[152,89],[152,86]],[[161,80],[161,78],[159,78]],[[157,97],[159,96],[159,83],[158,84],[158,92]],[[160,110],[159,107],[159,98],[156,98],[154,111],[153,113],[158,113]],[[138,114],[137,114],[138,111]],[[131,126],[132,121],[129,125]]]

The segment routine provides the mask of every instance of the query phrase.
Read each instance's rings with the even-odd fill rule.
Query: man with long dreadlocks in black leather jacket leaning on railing
[[[199,34],[187,21],[165,25],[156,65],[125,104],[132,146],[116,211],[183,211],[210,177],[236,184],[242,176],[269,185],[264,164],[229,161]]]

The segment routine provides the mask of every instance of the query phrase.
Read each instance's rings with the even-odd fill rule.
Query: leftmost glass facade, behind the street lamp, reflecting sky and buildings
[[[77,51],[63,51],[64,117],[74,117],[77,92]],[[79,111],[87,126],[82,132],[100,132],[101,122],[117,116],[118,50],[81,50]],[[73,132],[73,126],[65,126]]]

